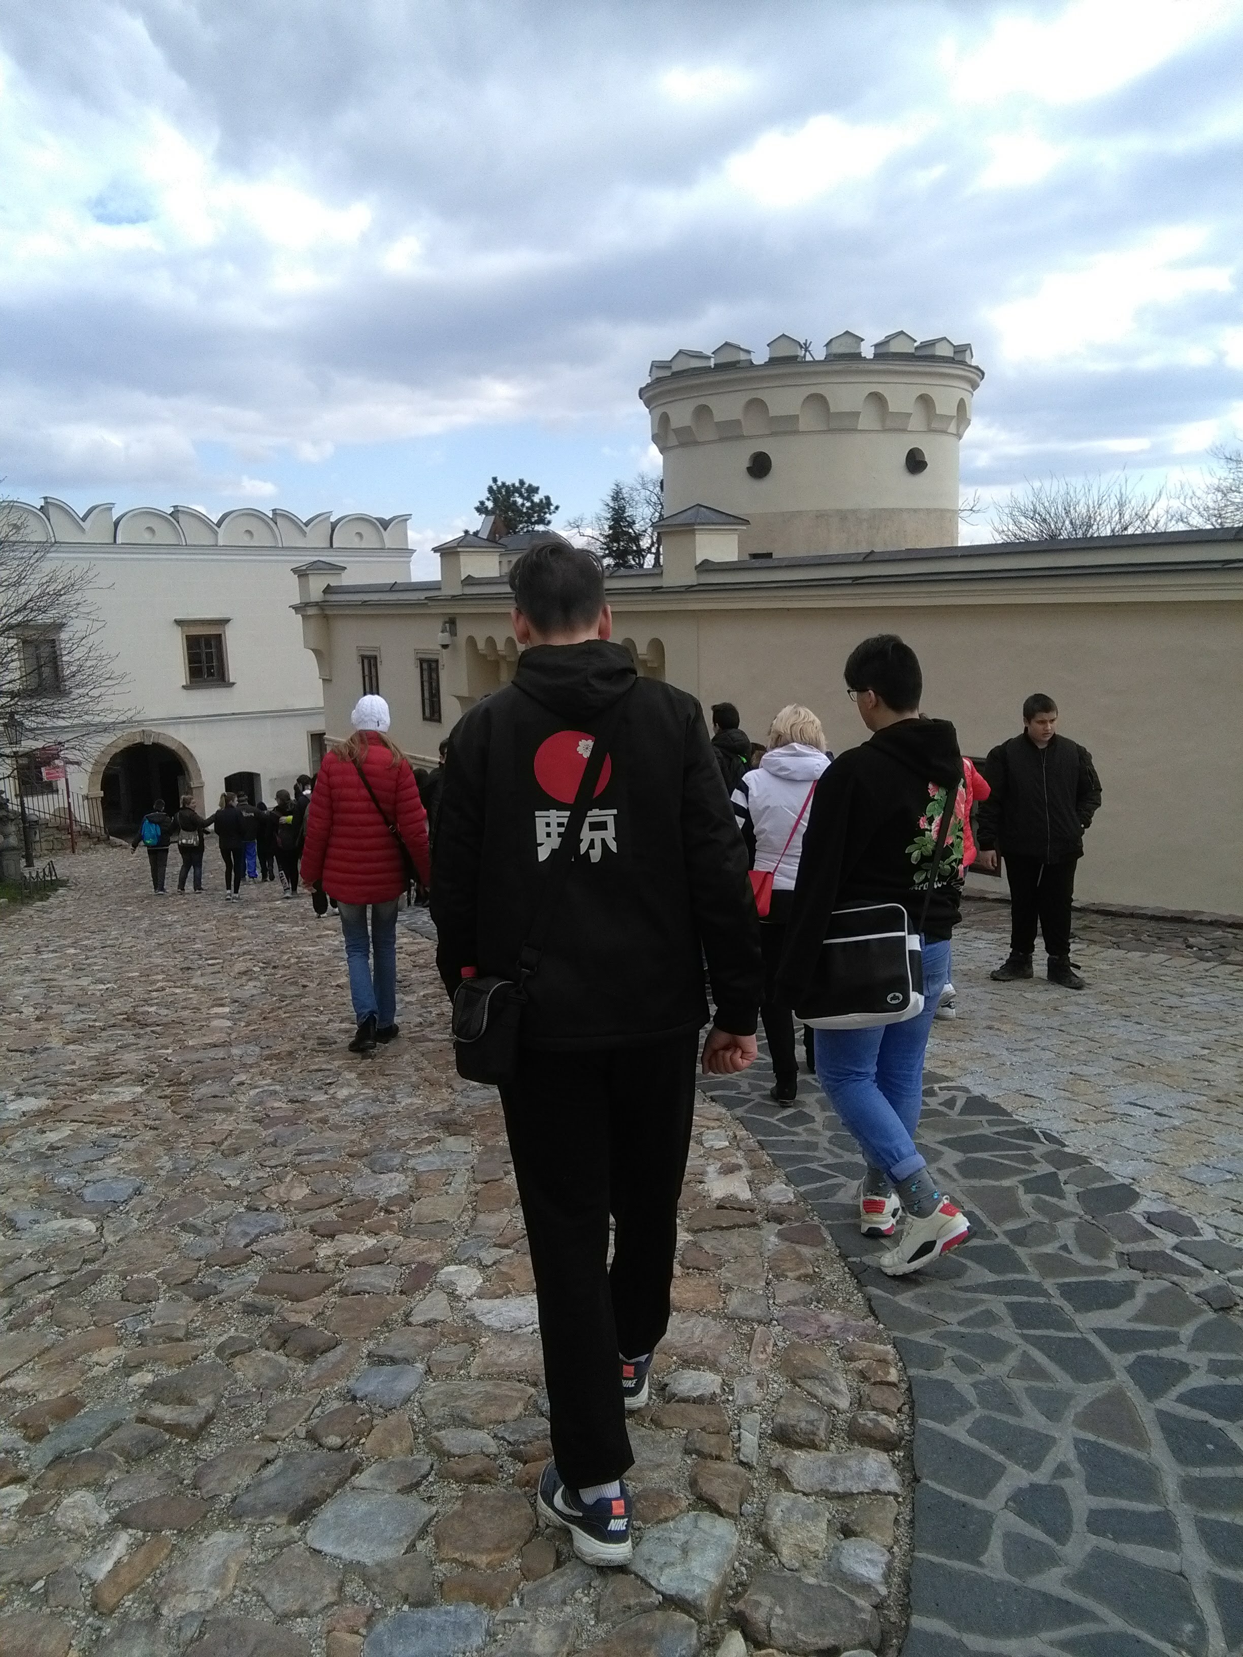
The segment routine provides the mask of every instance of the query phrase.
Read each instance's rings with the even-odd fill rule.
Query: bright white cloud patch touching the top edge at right
[[[1238,13],[1238,0],[1074,0],[1057,15],[1006,10],[988,40],[943,60],[955,91],[978,103],[1026,94],[1052,104],[1117,91],[1207,30]]]

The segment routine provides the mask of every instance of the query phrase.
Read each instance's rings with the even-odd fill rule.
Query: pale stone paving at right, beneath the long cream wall
[[[960,1019],[935,1026],[935,1062],[1243,1243],[1243,933],[1079,913],[1087,989],[1072,994],[1041,976],[991,983],[1008,928],[1008,908],[968,905],[955,935]]]

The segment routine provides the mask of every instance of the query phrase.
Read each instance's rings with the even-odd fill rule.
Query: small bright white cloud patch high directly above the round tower
[[[800,207],[842,184],[870,179],[925,131],[921,121],[852,126],[835,114],[814,114],[792,133],[764,133],[731,156],[724,172],[764,207]]]

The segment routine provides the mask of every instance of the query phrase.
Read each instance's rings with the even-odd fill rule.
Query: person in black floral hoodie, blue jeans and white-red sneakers
[[[888,1238],[898,1216],[907,1216],[900,1241],[880,1256],[880,1269],[897,1278],[920,1271],[971,1234],[915,1143],[923,1054],[958,921],[963,827],[956,815],[931,888],[928,877],[941,815],[956,807],[963,757],[946,719],[920,716],[920,661],[895,633],[857,645],[845,663],[845,683],[872,737],[839,754],[817,784],[777,989],[799,1006],[834,910],[900,903],[910,925],[926,896],[923,1012],[903,1024],[815,1032],[820,1085],[867,1163],[860,1229]]]

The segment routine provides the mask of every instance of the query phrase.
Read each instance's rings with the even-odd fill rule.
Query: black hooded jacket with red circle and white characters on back
[[[633,689],[631,689],[633,686]],[[515,976],[592,731],[626,691],[580,850],[530,979],[522,1042],[603,1049],[708,1022],[751,1036],[761,996],[747,855],[693,696],[636,679],[620,645],[537,645],[456,726],[431,913],[449,994],[462,968]]]

